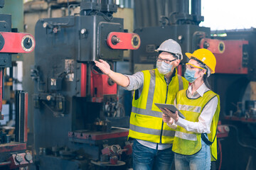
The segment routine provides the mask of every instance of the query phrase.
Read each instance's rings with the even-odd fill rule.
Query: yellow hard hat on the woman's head
[[[193,52],[193,54],[186,52],[186,56],[190,59],[191,57],[195,57],[200,60],[210,69],[210,74],[215,73],[216,59],[213,55],[213,52],[207,50],[205,48],[198,49]]]

